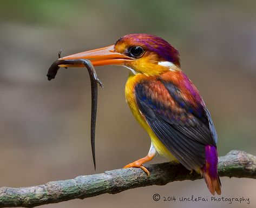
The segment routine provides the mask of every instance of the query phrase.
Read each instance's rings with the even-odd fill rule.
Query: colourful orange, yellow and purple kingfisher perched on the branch
[[[129,69],[126,102],[147,131],[151,145],[146,157],[124,168],[140,167],[149,175],[143,164],[159,153],[201,173],[209,191],[221,194],[218,136],[213,120],[198,89],[181,70],[180,54],[174,46],[155,35],[133,33],[113,45],[58,60],[71,59],[89,59],[94,66],[122,65]]]

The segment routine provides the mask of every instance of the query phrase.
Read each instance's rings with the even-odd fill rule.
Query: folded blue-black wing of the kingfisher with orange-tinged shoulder
[[[212,119],[204,106],[200,111],[192,109],[192,106],[182,100],[179,92],[175,93],[176,88],[172,86],[170,83],[169,89],[166,89],[174,100],[176,110],[157,99],[157,93],[161,90],[157,92],[146,81],[135,86],[136,102],[157,138],[179,162],[189,170],[198,169],[205,164],[205,145],[215,145],[213,136],[216,133],[212,133]]]

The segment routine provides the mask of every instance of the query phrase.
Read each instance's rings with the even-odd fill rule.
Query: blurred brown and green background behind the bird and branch
[[[1,1],[0,186],[31,186],[94,174],[90,150],[90,83],[86,69],[60,69],[62,56],[113,44],[128,33],[152,33],[181,53],[219,136],[219,155],[256,155],[255,1]],[[99,89],[96,173],[119,169],[148,152],[150,139],[124,99],[128,70],[96,68]],[[152,163],[163,162],[156,157]],[[234,203],[164,203],[152,195],[210,197],[203,180],[103,194],[42,207],[255,207],[256,180],[221,178]]]

